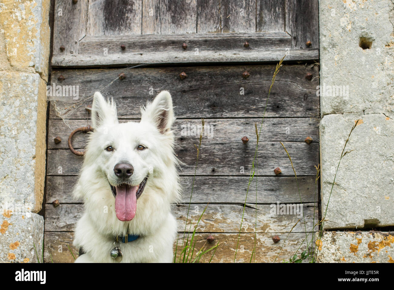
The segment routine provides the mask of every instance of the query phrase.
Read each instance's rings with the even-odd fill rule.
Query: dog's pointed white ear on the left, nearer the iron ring
[[[104,123],[118,123],[116,105],[113,99],[105,100],[100,92],[95,92],[92,105],[92,125],[98,128]]]

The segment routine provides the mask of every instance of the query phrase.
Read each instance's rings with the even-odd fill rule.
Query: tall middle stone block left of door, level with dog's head
[[[45,180],[46,83],[37,73],[0,78],[0,206],[41,210]]]

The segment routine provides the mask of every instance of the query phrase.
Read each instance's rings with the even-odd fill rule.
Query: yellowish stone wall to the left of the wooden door
[[[0,262],[38,262],[36,250],[41,262],[49,9],[0,4]]]

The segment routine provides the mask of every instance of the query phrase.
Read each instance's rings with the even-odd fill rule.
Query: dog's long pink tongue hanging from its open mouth
[[[138,186],[121,185],[116,187],[115,211],[120,221],[131,221],[137,210]]]

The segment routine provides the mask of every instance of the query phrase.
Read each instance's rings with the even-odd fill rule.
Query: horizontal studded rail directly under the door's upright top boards
[[[244,47],[245,40],[249,47]],[[186,43],[188,47],[182,48]],[[122,50],[120,44],[126,46]],[[228,51],[232,54],[244,54],[257,51],[271,51],[291,47],[291,37],[285,32],[275,33],[234,33],[234,34],[170,34],[170,35],[140,35],[140,36],[87,36],[80,41],[79,54],[103,56],[103,47],[108,48],[108,56],[119,55],[122,58],[134,54],[173,54],[176,58],[204,58],[208,52],[222,54]],[[198,49],[198,54],[195,49]]]

